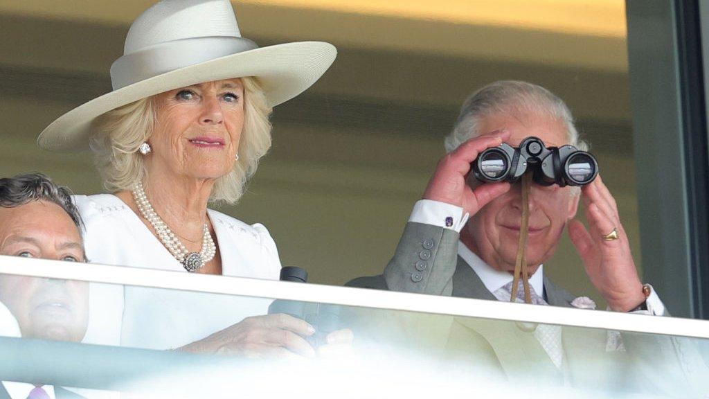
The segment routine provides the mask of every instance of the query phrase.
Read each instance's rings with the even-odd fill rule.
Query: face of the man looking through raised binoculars
[[[515,147],[529,136],[542,139],[547,147],[568,143],[562,121],[528,112],[493,114],[482,119],[479,127],[483,133],[506,129],[510,132],[507,142]],[[481,183],[471,175],[469,184],[475,187]],[[472,216],[461,237],[490,266],[510,273],[515,268],[520,238],[521,186],[520,180],[510,191],[492,200]],[[571,187],[545,187],[532,183],[527,239],[527,266],[530,266],[531,273],[554,254],[564,226],[576,214],[578,203],[579,197],[571,195]]]

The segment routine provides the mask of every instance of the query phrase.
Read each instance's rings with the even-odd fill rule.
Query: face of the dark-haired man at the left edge
[[[64,209],[45,201],[0,207],[0,255],[84,261],[79,229]],[[0,274],[0,301],[23,337],[78,342],[86,333],[87,283]]]

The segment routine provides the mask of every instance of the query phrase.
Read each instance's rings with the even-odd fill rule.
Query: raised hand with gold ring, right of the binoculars
[[[625,229],[620,224],[618,205],[600,175],[582,192],[588,229],[578,220],[573,220],[569,224],[569,236],[584,261],[591,283],[608,302],[608,307],[618,312],[628,312],[642,304],[645,296]],[[613,229],[618,230],[618,239],[605,241],[603,236]]]

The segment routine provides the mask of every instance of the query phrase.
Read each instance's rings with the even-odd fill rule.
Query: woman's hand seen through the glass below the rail
[[[303,338],[314,333],[315,329],[307,322],[282,313],[254,316],[187,344],[180,350],[250,358],[314,357],[315,349]]]

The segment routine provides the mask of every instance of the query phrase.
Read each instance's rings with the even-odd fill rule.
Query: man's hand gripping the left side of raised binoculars
[[[470,163],[478,158],[479,153],[487,148],[499,146],[509,137],[508,131],[493,131],[484,136],[471,138],[445,155],[428,182],[423,199],[462,207],[463,212],[472,216],[488,202],[510,190],[510,184],[507,182],[488,183],[476,187],[475,190],[467,184]]]

